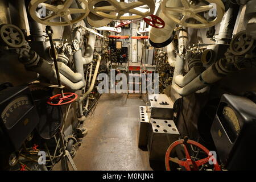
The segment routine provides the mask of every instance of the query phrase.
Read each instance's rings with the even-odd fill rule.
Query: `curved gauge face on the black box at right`
[[[220,119],[229,139],[233,143],[241,130],[236,113],[232,108],[225,106],[222,110]]]

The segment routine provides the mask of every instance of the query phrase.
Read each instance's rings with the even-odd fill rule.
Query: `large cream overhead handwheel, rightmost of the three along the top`
[[[161,3],[161,9],[167,18],[170,18],[177,24],[189,28],[208,28],[221,22],[225,13],[225,6],[221,0],[205,0],[209,5],[193,5],[188,0],[181,1],[182,7],[167,6],[167,0]],[[201,13],[208,12],[209,16],[215,17],[208,21]],[[178,15],[175,15],[178,14]],[[197,20],[199,23],[192,23],[191,20]]]

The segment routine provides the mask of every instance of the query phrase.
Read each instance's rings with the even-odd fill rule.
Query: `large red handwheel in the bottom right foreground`
[[[193,140],[188,140],[187,141],[187,144],[192,144],[193,146],[197,146],[199,147],[201,150],[203,150],[207,155],[208,157],[207,158],[204,158],[204,159],[200,159],[200,160],[193,160],[191,159],[191,156],[189,155],[189,152],[188,152],[188,148],[185,144],[183,144],[184,140],[177,140],[175,141],[174,143],[172,143],[167,151],[166,151],[166,159],[165,159],[165,163],[166,163],[166,170],[167,171],[171,171],[170,169],[170,161],[171,162],[174,162],[176,164],[179,164],[180,166],[183,166],[185,167],[185,169],[187,171],[198,171],[199,170],[199,167],[205,163],[208,163],[209,162],[209,159],[211,157],[213,157],[212,155],[209,155],[209,150],[207,148],[205,148],[203,145],[201,145],[200,143],[198,142],[195,142]],[[186,155],[186,160],[179,160],[179,159],[176,159],[176,158],[171,158],[170,157],[170,154],[172,152],[172,150],[180,145],[180,144],[183,144],[183,148],[184,148],[184,151],[185,151],[185,155]],[[218,166],[218,162],[216,161],[216,164],[213,164],[214,166],[214,171],[221,171],[221,168],[220,166]]]

